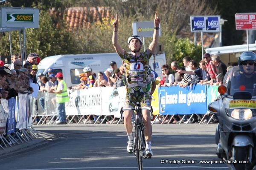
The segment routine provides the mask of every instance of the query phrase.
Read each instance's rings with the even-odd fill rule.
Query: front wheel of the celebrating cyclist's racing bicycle
[[[135,145],[134,145],[134,148],[135,148],[135,155],[136,155],[136,158],[137,158],[137,164],[138,164],[138,170],[143,170],[143,152],[142,152],[142,133],[141,133],[141,130],[140,130],[140,127],[139,125],[136,125],[136,128],[135,128]]]

